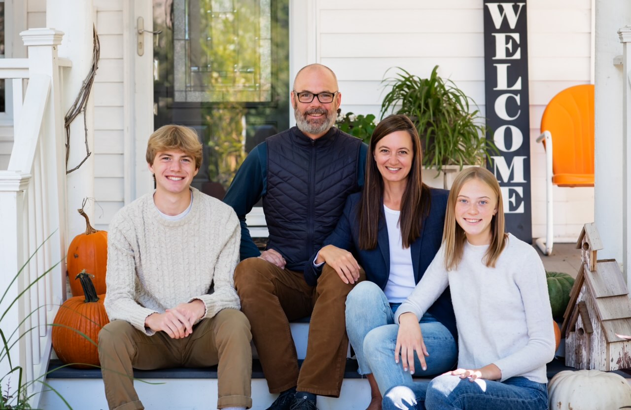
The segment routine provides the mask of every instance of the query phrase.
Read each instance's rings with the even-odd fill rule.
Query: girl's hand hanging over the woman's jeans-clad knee
[[[410,374],[414,374],[414,352],[421,362],[423,370],[427,370],[425,356],[429,356],[425,343],[423,343],[423,335],[421,334],[421,326],[418,324],[418,318],[412,312],[403,313],[399,316],[399,333],[396,337],[396,346],[394,347],[394,361],[399,363],[399,354],[401,355],[401,364],[404,372],[408,371],[410,366]]]

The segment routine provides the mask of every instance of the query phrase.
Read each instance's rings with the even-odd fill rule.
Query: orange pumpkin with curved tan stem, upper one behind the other
[[[84,269],[94,276],[94,287],[97,295],[105,293],[105,272],[107,271],[107,231],[100,231],[92,228],[88,215],[83,212],[83,208],[77,209],[81,216],[85,218],[85,233],[74,237],[68,247],[68,257],[66,258],[68,278],[75,278]],[[83,295],[81,284],[77,281],[70,281],[70,290],[73,296]]]

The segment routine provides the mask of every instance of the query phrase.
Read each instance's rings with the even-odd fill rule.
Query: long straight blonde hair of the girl
[[[447,271],[457,269],[458,264],[463,259],[464,242],[466,242],[467,238],[464,235],[463,228],[456,222],[456,202],[463,185],[472,179],[477,179],[487,184],[497,197],[497,214],[491,220],[491,244],[484,255],[483,262],[488,267],[495,267],[497,258],[500,257],[502,250],[506,246],[504,203],[502,201],[500,184],[495,179],[495,175],[486,168],[467,168],[457,175],[449,191],[449,199],[447,199],[445,227],[442,233],[442,242],[445,250],[445,269]]]

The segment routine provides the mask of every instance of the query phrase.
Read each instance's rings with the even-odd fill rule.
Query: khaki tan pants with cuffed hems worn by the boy
[[[201,320],[184,339],[171,339],[165,332],[146,336],[125,320],[114,320],[98,334],[107,404],[110,410],[144,409],[134,389],[133,368],[218,364],[217,407],[252,407],[251,339],[245,315],[235,309],[224,309],[211,319]]]

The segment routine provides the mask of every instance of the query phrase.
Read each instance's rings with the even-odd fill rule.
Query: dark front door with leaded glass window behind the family
[[[153,0],[155,128],[197,130],[193,186],[223,197],[247,153],[289,127],[288,0]]]

